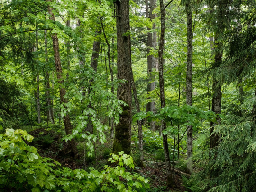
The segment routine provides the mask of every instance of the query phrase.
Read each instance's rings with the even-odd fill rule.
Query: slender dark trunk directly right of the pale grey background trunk
[[[164,44],[165,44],[165,5],[163,0],[160,2],[160,22],[161,22],[161,33],[158,50],[158,64],[159,64],[159,88],[160,88],[160,100],[161,108],[165,107],[165,84],[164,84]],[[166,130],[166,123],[163,121],[162,130]],[[174,178],[172,174],[171,160],[168,148],[167,134],[163,134],[163,146],[165,151],[165,162],[167,164],[167,186],[174,185]]]

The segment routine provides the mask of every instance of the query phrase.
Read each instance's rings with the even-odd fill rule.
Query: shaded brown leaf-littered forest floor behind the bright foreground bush
[[[110,143],[107,142],[104,143],[104,145],[98,143],[96,146],[97,149],[95,150],[97,153],[95,153],[93,157],[86,157],[84,159],[83,144],[82,142],[78,142],[79,159],[58,156],[60,149],[64,148],[66,145],[66,143],[61,140],[60,134],[53,131],[53,129],[47,130],[45,128],[37,128],[31,131],[30,134],[34,136],[32,145],[39,150],[38,152],[41,156],[54,159],[61,163],[62,166],[71,169],[83,169],[85,167],[84,162],[86,162],[86,167],[94,167],[101,170],[107,162],[108,154],[111,153]],[[135,148],[134,145],[133,148]],[[145,153],[144,167],[135,167],[133,170],[149,179],[151,187],[148,192],[185,192],[186,189],[183,186],[182,176],[186,174],[182,170],[175,168],[175,186],[172,189],[166,188],[165,162],[156,161],[154,155],[154,153]]]

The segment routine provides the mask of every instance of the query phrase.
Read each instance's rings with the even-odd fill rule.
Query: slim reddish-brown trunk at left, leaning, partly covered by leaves
[[[51,2],[51,0],[48,0],[49,2]],[[50,15],[50,19],[55,21],[55,17],[54,14],[52,13],[52,8],[49,6],[48,7],[48,12]],[[56,75],[57,75],[57,79],[58,79],[58,83],[59,84],[64,84],[64,80],[63,80],[63,72],[62,72],[62,66],[61,66],[61,59],[60,59],[60,53],[59,53],[59,40],[57,37],[57,34],[52,34],[52,40],[53,40],[53,50],[54,50],[54,59],[55,59],[55,68],[56,68]],[[65,104],[67,103],[67,100],[65,99],[65,94],[66,94],[66,90],[64,88],[64,86],[61,86],[60,88],[60,102],[61,104]],[[66,108],[66,106],[64,105],[64,108]],[[64,120],[64,126],[65,126],[65,132],[67,135],[72,134],[72,125],[71,125],[71,121],[70,121],[70,117],[69,114],[65,114],[63,117]],[[75,144],[75,140],[71,139],[70,141],[68,141],[68,146],[67,148],[65,148],[62,151],[64,154],[70,154],[74,157],[77,157],[78,153],[77,153],[77,149],[76,149],[76,144]]]

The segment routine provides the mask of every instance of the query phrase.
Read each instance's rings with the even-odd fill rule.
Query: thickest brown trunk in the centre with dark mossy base
[[[117,99],[122,100],[123,112],[116,125],[113,153],[124,151],[131,154],[131,39],[129,21],[129,0],[116,1],[117,7],[117,78],[126,80],[120,83],[117,90]]]

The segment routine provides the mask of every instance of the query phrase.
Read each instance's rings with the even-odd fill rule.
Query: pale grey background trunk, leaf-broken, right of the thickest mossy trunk
[[[156,8],[156,0],[150,0],[149,1],[149,6],[148,6],[148,1],[146,1],[146,17],[149,17],[150,20],[152,21],[157,17],[156,13],[153,14],[153,10]],[[154,30],[153,33],[148,32],[147,33],[147,54],[150,53],[151,49],[156,49],[156,43],[157,43],[157,34],[155,31],[155,23],[153,23],[152,29]],[[148,28],[148,30],[150,30]],[[155,58],[154,55],[147,55],[147,75],[148,75],[148,80],[150,83],[147,85],[147,94],[149,92],[152,92],[155,90],[155,77],[152,76],[152,70],[153,68],[158,69],[158,63],[157,59]],[[147,98],[150,100],[150,97]],[[151,101],[148,102],[146,105],[146,112],[152,111],[155,112],[155,102]],[[150,123],[151,130],[155,131],[155,121],[152,121]]]

